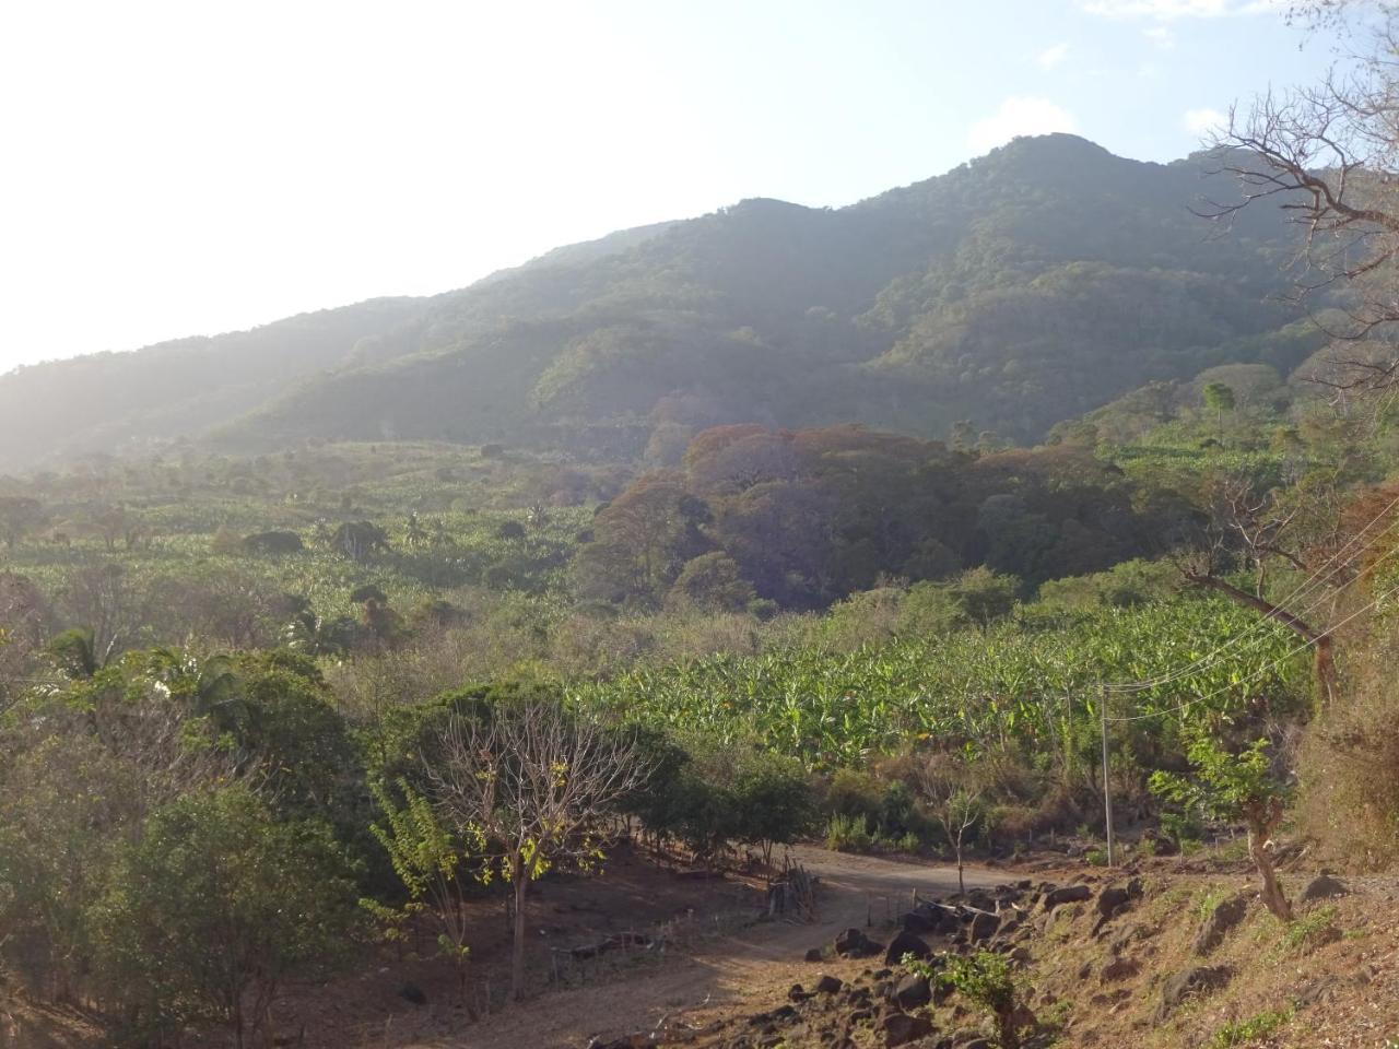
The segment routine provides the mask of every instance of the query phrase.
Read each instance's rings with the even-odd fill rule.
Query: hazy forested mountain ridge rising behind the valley
[[[1154,379],[1288,371],[1284,224],[1192,214],[1207,161],[1066,134],[844,208],[744,200],[382,299],[0,379],[0,466],[200,436],[436,438],[665,460],[723,422],[1037,439]],[[1216,194],[1227,189],[1216,187]]]

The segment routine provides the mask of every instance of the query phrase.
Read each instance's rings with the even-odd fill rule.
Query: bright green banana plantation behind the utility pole
[[[1100,680],[1140,680],[1223,639],[1256,618],[1219,599],[1181,597],[1136,608],[1104,608],[1027,629],[1007,620],[986,631],[911,638],[828,653],[810,646],[760,655],[716,655],[673,666],[637,666],[609,681],[571,688],[579,702],[720,740],[753,738],[820,768],[859,766],[872,752],[911,740],[965,743],[972,752],[1013,748],[1045,758],[1095,761],[1097,712],[1066,697],[1091,694]],[[1142,692],[1137,709],[1161,713],[1150,736],[1129,736],[1143,758],[1181,738],[1202,716],[1235,715],[1248,697],[1302,695],[1305,666],[1283,660],[1294,645],[1266,625],[1245,663]],[[1252,677],[1255,676],[1256,677]],[[1252,677],[1247,688],[1240,680]],[[1205,699],[1207,697],[1207,701]],[[1182,716],[1177,709],[1195,701]]]

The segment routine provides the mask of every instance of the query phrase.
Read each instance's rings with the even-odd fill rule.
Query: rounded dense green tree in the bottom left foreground
[[[278,822],[243,787],[180,799],[123,850],[92,920],[97,964],[151,1034],[266,1032],[278,985],[344,943],[354,898],[329,828]]]

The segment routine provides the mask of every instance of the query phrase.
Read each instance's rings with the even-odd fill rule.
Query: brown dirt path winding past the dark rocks
[[[879,923],[886,908],[894,915],[907,911],[915,888],[923,895],[957,891],[953,867],[848,856],[811,846],[796,848],[792,855],[824,885],[814,925],[767,925],[741,936],[719,937],[651,972],[546,994],[457,1038],[420,1042],[416,1049],[581,1049],[595,1035],[651,1031],[663,1018],[701,1025],[734,1011],[739,1003],[753,1001],[754,1010],[765,1008],[779,1001],[792,983],[810,979],[817,968],[837,973],[863,968],[866,962],[813,966],[803,955],[830,943],[842,929],[863,927],[872,908]],[[967,870],[968,885],[1004,880],[1003,873]]]

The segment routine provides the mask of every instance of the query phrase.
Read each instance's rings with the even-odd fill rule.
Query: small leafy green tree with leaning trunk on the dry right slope
[[[1293,785],[1274,768],[1267,740],[1255,740],[1238,754],[1230,754],[1203,732],[1189,747],[1193,775],[1151,773],[1151,792],[1217,820],[1242,820],[1248,827],[1248,855],[1262,883],[1263,905],[1283,922],[1293,920],[1293,906],[1277,881],[1273,866],[1273,831],[1293,796]]]

